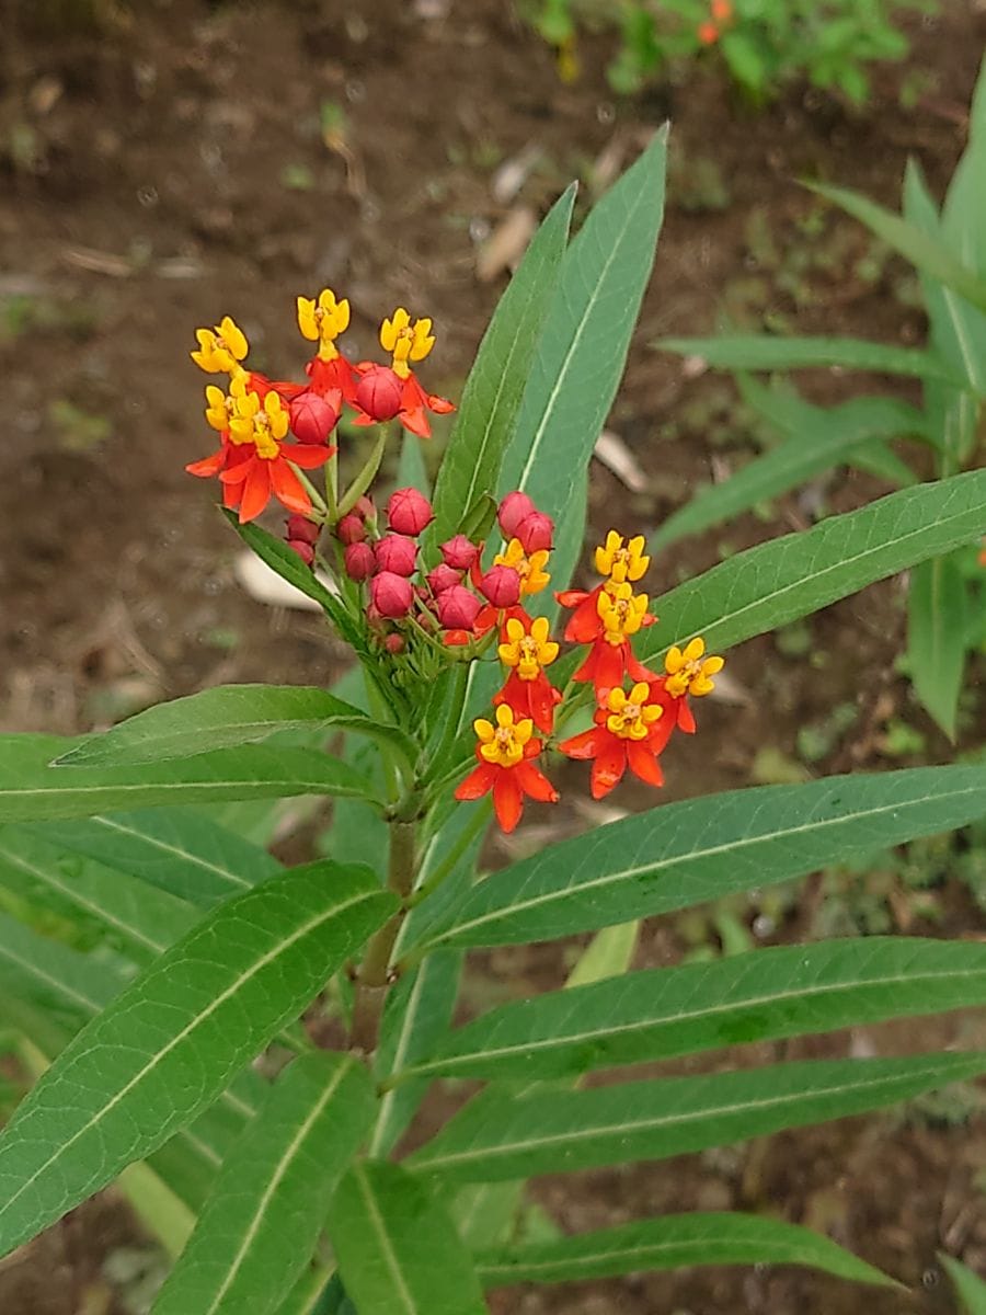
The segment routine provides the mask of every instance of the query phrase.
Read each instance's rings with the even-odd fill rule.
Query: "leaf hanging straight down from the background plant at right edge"
[[[965,669],[966,585],[954,555],[919,563],[907,594],[907,663],[922,704],[956,738]]]

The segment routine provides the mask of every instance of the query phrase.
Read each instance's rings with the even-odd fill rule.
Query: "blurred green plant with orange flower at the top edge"
[[[638,92],[702,50],[720,51],[730,76],[755,103],[806,78],[855,104],[869,97],[866,66],[903,59],[907,39],[894,13],[933,13],[929,0],[542,0],[532,22],[557,47],[563,75],[576,71],[578,25],[619,26],[621,47],[607,68],[613,89]]]

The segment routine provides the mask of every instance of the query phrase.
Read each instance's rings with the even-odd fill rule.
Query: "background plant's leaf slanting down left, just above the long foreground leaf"
[[[757,405],[760,398],[765,406]],[[749,400],[749,398],[748,398]],[[753,405],[773,419],[769,389],[756,389]],[[728,521],[769,498],[805,484],[815,475],[845,462],[856,448],[874,438],[903,438],[920,433],[924,417],[907,402],[893,397],[855,397],[839,406],[812,406],[787,398],[797,429],[786,442],[755,458],[728,480],[697,493],[652,535],[649,550],[657,552],[689,534]],[[791,408],[790,404],[795,405]],[[785,417],[787,419],[787,417]],[[790,431],[787,423],[782,427]]]

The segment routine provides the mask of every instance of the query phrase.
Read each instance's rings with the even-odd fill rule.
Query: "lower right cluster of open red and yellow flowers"
[[[519,498],[525,494],[510,493],[501,502],[501,529],[505,509],[509,519],[510,508],[515,505],[511,500]],[[531,508],[527,514],[538,513]],[[505,533],[509,531],[505,529]],[[504,559],[515,542],[511,539]],[[548,548],[550,537],[544,548],[539,548],[538,572],[544,583]],[[555,747],[568,757],[592,761],[590,788],[597,800],[609,794],[627,768],[648,785],[664,784],[661,752],[674,730],[694,732],[689,701],[709,694],[713,677],[723,667],[722,658],[706,656],[705,642],[699,638],[692,639],[684,650],[673,644],[660,673],[634,656],[632,636],[657,619],[648,611],[647,594],[634,592],[648,564],[643,537],[626,540],[610,530],[596,550],[596,569],[603,577],[601,584],[592,590],[568,589],[556,594],[557,601],[572,610],[564,639],[585,650],[572,685],[592,685],[594,711],[589,730]],[[515,606],[501,610],[496,623],[501,638],[497,652],[507,672],[493,700],[496,726],[485,718],[473,723],[477,767],[455,794],[459,800],[475,800],[492,790],[500,826],[513,831],[521,819],[525,796],[542,802],[557,800],[556,790],[531,759],[547,747],[553,734],[563,692],[551,684],[546,672],[559,655],[559,644],[550,638],[547,618],[531,617],[523,606]],[[535,735],[535,730],[540,735]]]

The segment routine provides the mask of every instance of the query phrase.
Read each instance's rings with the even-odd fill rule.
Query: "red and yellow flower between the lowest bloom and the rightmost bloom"
[[[594,800],[618,785],[627,767],[648,785],[664,785],[664,773],[657,755],[667,736],[656,734],[664,718],[664,707],[655,701],[652,686],[638,681],[627,694],[617,686],[610,689],[596,711],[596,725],[563,740],[559,750],[568,757],[592,759],[592,794]]]

